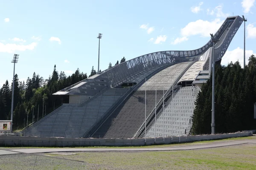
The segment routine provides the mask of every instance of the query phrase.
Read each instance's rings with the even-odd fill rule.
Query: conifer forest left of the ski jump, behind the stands
[[[121,60],[125,62],[125,57]],[[97,72],[92,67],[89,77],[94,74],[97,74]],[[67,103],[68,96],[60,98],[52,94],[86,78],[87,74],[81,72],[79,68],[77,68],[74,74],[67,77],[64,71],[60,73],[57,71],[56,65],[54,65],[52,74],[49,75],[48,79],[44,79],[34,72],[32,78],[28,77],[26,82],[21,82],[18,75],[15,74],[13,130],[23,128],[24,124],[26,125],[27,116],[28,123],[32,123],[33,120],[37,121],[38,116],[41,119],[41,117],[52,112],[62,103]],[[0,88],[0,120],[11,119],[11,105],[12,83],[6,80],[2,88]],[[32,118],[33,111],[34,119]]]

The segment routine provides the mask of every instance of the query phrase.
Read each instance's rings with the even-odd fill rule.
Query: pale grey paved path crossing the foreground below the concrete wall
[[[14,149],[14,150],[0,150],[0,155],[17,154],[17,153],[50,153],[50,152],[76,152],[76,151],[160,151],[160,150],[192,150],[205,149],[212,147],[223,147],[237,144],[256,144],[256,139],[234,140],[223,142],[212,142],[208,144],[191,144],[170,147],[135,147],[135,148],[43,148],[43,149]]]

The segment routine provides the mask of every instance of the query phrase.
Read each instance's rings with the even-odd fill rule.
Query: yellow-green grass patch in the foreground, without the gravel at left
[[[77,152],[51,157],[85,161],[107,169],[256,169],[256,145],[243,144],[201,150],[150,152]]]

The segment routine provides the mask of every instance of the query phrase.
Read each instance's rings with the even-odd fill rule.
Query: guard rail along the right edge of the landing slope
[[[177,89],[177,83],[180,80],[180,78],[183,76],[183,74],[186,73],[186,71],[197,61],[193,61],[191,63],[189,63],[189,65],[180,73],[180,75],[175,79],[175,81],[173,82],[173,85],[175,85],[175,89]],[[168,91],[166,91],[166,93],[164,94],[164,101],[165,103],[167,101],[169,101],[170,96],[172,93],[172,86],[168,89]],[[161,111],[161,109],[163,108],[163,97],[160,99],[160,101],[157,103],[157,108],[154,108],[153,111],[151,111],[151,113],[148,115],[147,119],[146,119],[146,125],[151,125],[152,124],[152,120],[154,119],[154,113],[155,113],[155,109],[157,109],[158,113]],[[157,114],[158,114],[157,113]],[[137,130],[137,132],[134,134],[133,138],[139,138],[141,136],[143,136],[143,134],[145,133],[145,122],[143,122],[143,124],[140,126],[140,128]],[[148,127],[148,126],[147,126]]]

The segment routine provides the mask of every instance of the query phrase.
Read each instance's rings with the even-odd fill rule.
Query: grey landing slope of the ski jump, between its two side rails
[[[172,65],[147,80],[140,88],[131,94],[111,116],[94,133],[95,138],[132,138],[145,120],[145,87],[147,87],[148,116],[155,107],[155,89],[157,88],[157,102],[163,97],[163,90],[167,91],[189,65],[182,62]],[[160,87],[160,88],[159,88]]]

